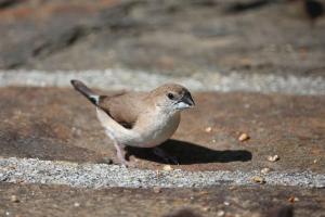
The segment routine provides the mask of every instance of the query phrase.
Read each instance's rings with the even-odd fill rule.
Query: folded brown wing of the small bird
[[[126,128],[132,128],[141,113],[145,93],[123,92],[116,95],[101,95],[99,107]]]

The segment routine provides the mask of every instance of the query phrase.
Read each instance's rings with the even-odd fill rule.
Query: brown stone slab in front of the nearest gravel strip
[[[207,189],[75,189],[0,183],[3,216],[183,216],[268,217],[291,206],[295,217],[324,216],[324,189],[214,187]],[[295,200],[296,199],[296,200]],[[289,202],[289,201],[296,202]]]

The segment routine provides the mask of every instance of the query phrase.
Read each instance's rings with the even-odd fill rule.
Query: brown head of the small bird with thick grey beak
[[[169,113],[179,112],[195,105],[190,91],[177,84],[166,84],[154,89],[151,91],[151,98],[156,106]]]

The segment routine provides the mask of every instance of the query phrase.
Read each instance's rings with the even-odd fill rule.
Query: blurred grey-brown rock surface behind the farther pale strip
[[[325,20],[253,2],[16,1],[0,10],[0,68],[324,76]]]

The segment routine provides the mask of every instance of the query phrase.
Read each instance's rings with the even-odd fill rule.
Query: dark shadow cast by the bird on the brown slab
[[[229,163],[251,161],[251,153],[246,150],[216,151],[198,144],[170,139],[159,145],[171,156],[178,159],[180,165],[206,164],[206,163]],[[154,154],[153,149],[140,149],[128,146],[128,156],[134,155],[157,163],[166,163],[165,159]]]

